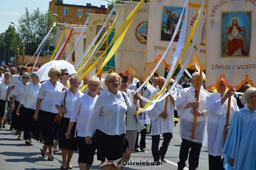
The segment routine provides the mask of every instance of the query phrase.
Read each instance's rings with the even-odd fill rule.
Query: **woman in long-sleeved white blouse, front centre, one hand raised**
[[[125,148],[125,113],[128,116],[136,111],[139,93],[133,95],[131,103],[127,94],[118,90],[122,79],[117,73],[109,73],[105,79],[108,90],[98,97],[92,116],[86,129],[86,143],[92,143],[95,132],[97,143],[97,159],[105,161],[122,158]],[[96,131],[95,131],[96,130]],[[114,166],[102,168],[115,169]]]

